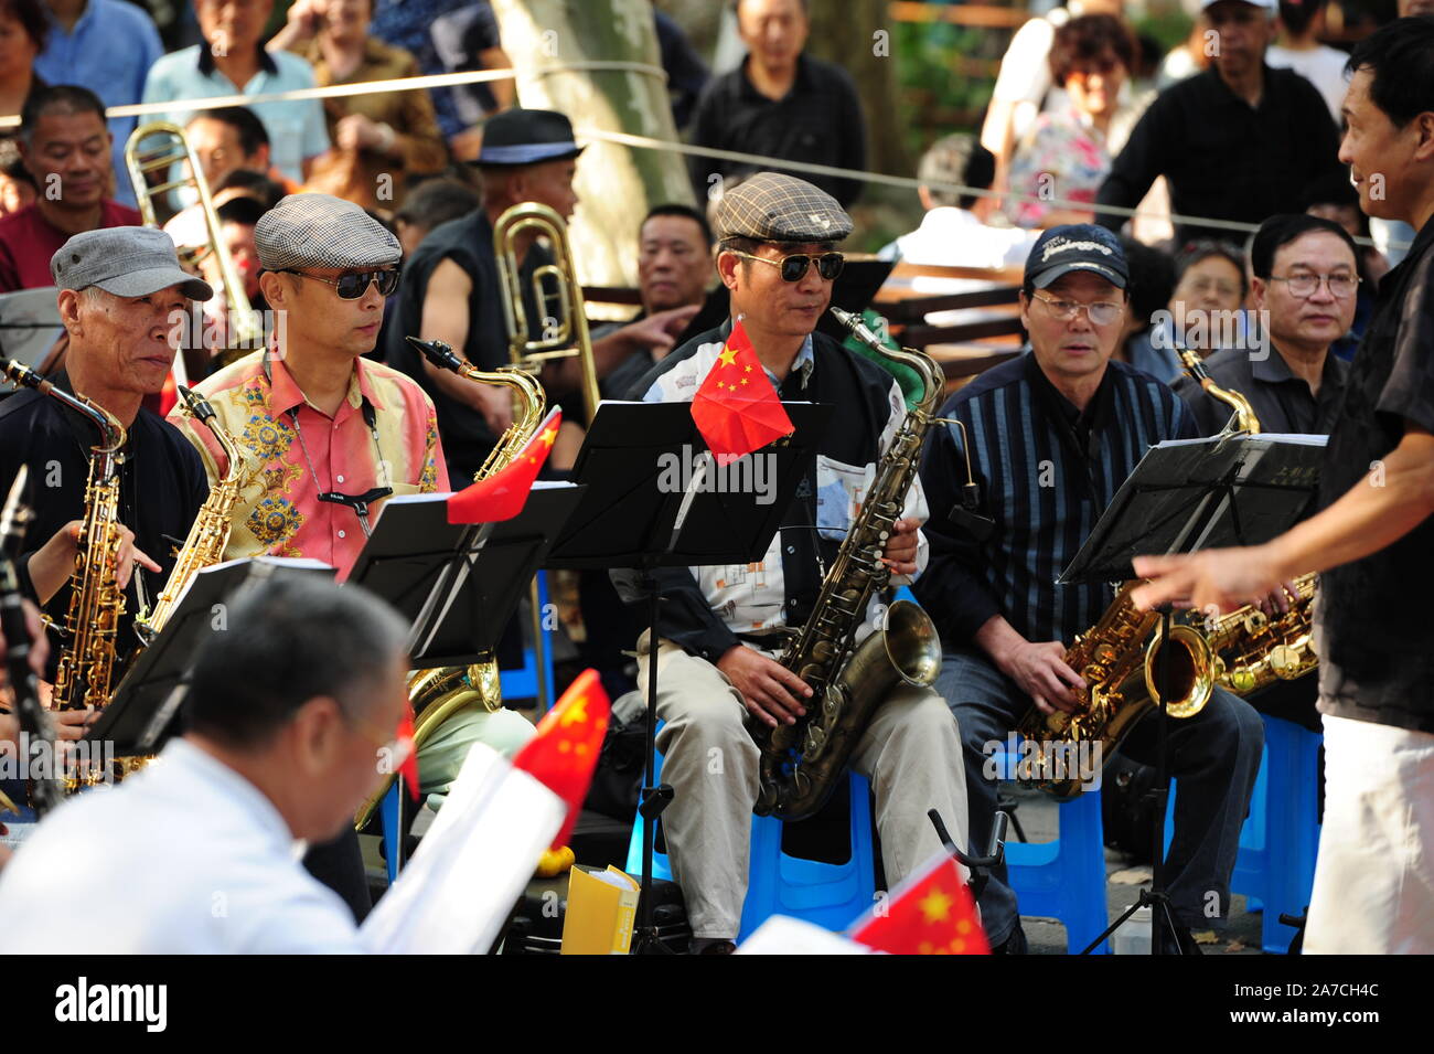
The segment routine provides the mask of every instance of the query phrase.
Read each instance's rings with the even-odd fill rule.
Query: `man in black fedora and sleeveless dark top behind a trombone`
[[[455,480],[473,478],[489,452],[513,423],[508,389],[475,384],[440,370],[419,354],[406,336],[442,340],[463,353],[479,370],[506,366],[508,327],[503,288],[493,252],[493,225],[509,206],[533,201],[564,221],[572,219],[578,194],[572,179],[582,148],[572,123],[555,110],[509,109],[483,126],[483,148],[473,162],[483,174],[483,201],[466,217],[433,228],[404,264],[403,281],[386,348],[390,364],[407,373],[432,396],[439,430]],[[515,245],[523,290],[528,331],[543,331],[543,314],[533,303],[532,272],[552,257],[528,235]],[[637,348],[667,351],[685,328],[691,311],[660,311],[594,341],[599,376]],[[543,370],[549,402],[578,404],[578,364],[572,359]],[[555,460],[558,452],[555,452]]]

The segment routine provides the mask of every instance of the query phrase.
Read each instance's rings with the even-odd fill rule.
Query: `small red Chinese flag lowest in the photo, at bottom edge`
[[[948,853],[908,879],[858,925],[852,939],[892,955],[989,955],[975,902]]]

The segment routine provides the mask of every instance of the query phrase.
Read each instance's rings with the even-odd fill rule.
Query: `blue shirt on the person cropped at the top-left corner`
[[[49,7],[50,39],[34,59],[36,75],[52,85],[79,85],[109,106],[132,106],[145,92],[145,75],[165,53],[153,20],[125,0],[89,0],[69,33]],[[115,145],[115,199],[135,204],[135,188],[125,169],[125,141],[138,118],[112,118]]]

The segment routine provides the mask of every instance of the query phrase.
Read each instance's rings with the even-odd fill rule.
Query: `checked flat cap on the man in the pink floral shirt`
[[[291,194],[254,225],[254,247],[265,271],[300,267],[397,264],[403,247],[351,201],[328,194]]]

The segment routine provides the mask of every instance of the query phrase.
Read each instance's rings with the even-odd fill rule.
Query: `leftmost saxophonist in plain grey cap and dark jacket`
[[[142,403],[169,376],[191,301],[214,293],[179,268],[169,235],[146,227],[76,234],[52,257],[50,277],[69,334],[65,369],[50,380],[112,413],[126,432],[118,469],[123,543],[116,581],[126,595],[115,647],[118,683],[139,642],[135,612],[152,604],[169,576],[168,539],[189,533],[209,493],[194,447]],[[89,417],[40,391],[24,389],[0,402],[0,492],[9,493],[27,465],[26,500],[36,519],[26,539],[49,539],[22,554],[22,589],[60,625],[70,602],[90,447],[99,442]],[[59,651],[50,648],[52,665]]]

